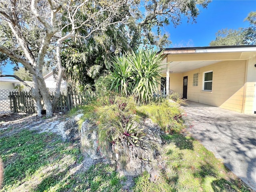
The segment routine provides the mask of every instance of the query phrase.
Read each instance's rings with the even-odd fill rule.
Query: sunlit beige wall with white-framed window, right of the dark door
[[[202,91],[203,73],[213,71],[212,91]],[[188,100],[242,112],[244,96],[245,60],[221,61],[216,64],[184,72],[188,76]],[[192,86],[193,74],[199,73],[198,86]],[[170,79],[171,81],[171,79]],[[182,81],[182,80],[181,80]]]

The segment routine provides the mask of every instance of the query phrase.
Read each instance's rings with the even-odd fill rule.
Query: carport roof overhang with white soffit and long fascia
[[[163,70],[161,72],[166,74],[167,63],[171,73],[182,73],[223,60],[241,60],[241,54],[244,52],[253,52],[253,54],[256,54],[256,45],[166,48],[163,54],[166,56],[170,54],[172,56],[169,60],[165,57],[165,60],[162,62]],[[222,56],[216,56],[216,53],[220,53]],[[172,60],[172,58],[178,58],[178,60]]]

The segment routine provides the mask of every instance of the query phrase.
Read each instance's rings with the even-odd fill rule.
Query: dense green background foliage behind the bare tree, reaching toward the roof
[[[169,46],[171,41],[168,34],[162,33],[162,27],[171,23],[174,26],[179,25],[182,16],[195,21],[199,14],[198,6],[206,8],[209,2],[210,0],[178,0],[174,4],[166,0],[136,0],[125,4],[111,18],[113,22],[117,22],[116,24],[104,26],[104,30],[95,31],[87,38],[65,41],[67,46],[63,46],[62,52],[62,65],[66,68],[65,78],[78,84],[93,83],[92,78],[97,78],[108,69],[110,60],[115,55],[136,51],[141,46],[154,45],[160,49]],[[87,3],[87,9],[83,10],[80,18],[86,20],[88,15],[96,14],[104,9],[104,6],[110,6],[112,3]],[[107,13],[101,14],[97,21],[100,23],[107,17]],[[125,23],[118,22],[121,20]],[[63,18],[62,22],[62,26],[65,26],[68,21]],[[65,28],[64,33],[69,27]],[[87,36],[94,27],[82,26],[77,32],[81,36]],[[156,32],[153,32],[155,30]]]

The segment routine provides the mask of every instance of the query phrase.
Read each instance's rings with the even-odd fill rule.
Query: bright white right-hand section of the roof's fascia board
[[[256,51],[256,47],[196,49],[196,53],[224,53],[224,52],[248,52],[248,51]]]

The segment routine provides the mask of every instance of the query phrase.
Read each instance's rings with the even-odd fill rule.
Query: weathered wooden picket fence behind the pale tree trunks
[[[78,105],[84,105],[88,103],[88,100],[92,99],[95,95],[88,92],[74,92],[70,89],[66,93],[62,93],[57,103],[53,107],[54,112],[67,112],[72,108],[76,108]],[[54,98],[54,94],[50,93],[51,100]],[[36,112],[34,101],[30,92],[12,91],[9,94],[10,98],[10,110],[11,112]],[[42,98],[42,97],[41,97]],[[41,100],[42,105],[43,100]],[[45,108],[44,108],[45,109]]]

